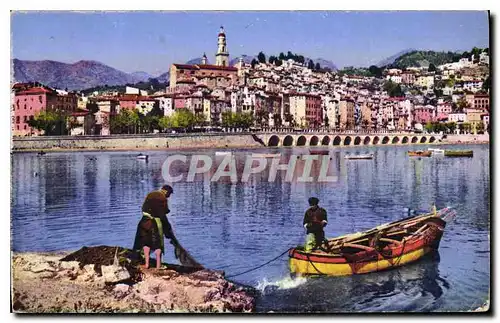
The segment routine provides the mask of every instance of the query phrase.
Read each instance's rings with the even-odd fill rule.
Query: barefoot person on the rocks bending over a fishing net
[[[145,268],[149,268],[151,251],[156,255],[156,268],[160,268],[161,254],[165,253],[163,236],[175,239],[167,220],[167,214],[170,212],[168,198],[173,192],[170,185],[164,185],[161,189],[149,193],[142,204],[142,218],[137,225],[134,250],[144,251]]]

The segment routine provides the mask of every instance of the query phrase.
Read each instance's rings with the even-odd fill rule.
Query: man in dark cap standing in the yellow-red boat
[[[305,251],[320,247],[325,240],[323,228],[328,223],[326,210],[318,206],[319,199],[309,198],[309,209],[304,215],[304,228],[307,230]]]

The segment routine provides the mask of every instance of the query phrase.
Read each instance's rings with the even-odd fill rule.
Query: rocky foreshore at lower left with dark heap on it
[[[252,292],[224,273],[163,264],[143,269],[120,247],[13,253],[15,313],[253,312]],[[152,264],[154,267],[154,262]]]

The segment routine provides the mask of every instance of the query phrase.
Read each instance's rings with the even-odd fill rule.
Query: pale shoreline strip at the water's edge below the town
[[[319,135],[318,135],[319,136]],[[328,135],[332,136],[332,135]],[[349,134],[349,136],[357,136]],[[422,135],[417,135],[425,137]],[[429,135],[427,135],[429,136]],[[432,136],[432,135],[430,135]],[[417,137],[418,138],[418,137]],[[387,146],[420,146],[420,145],[484,145],[489,144],[489,135],[448,135],[445,139],[435,140],[434,142],[407,142],[407,143],[369,143],[367,145],[350,142],[343,145],[333,145],[328,141],[327,145],[317,142],[316,145],[292,145],[283,144],[271,145],[269,138],[265,134],[217,134],[210,136],[176,136],[176,137],[30,137],[22,139],[13,139],[11,142],[11,154],[15,153],[33,153],[33,152],[97,152],[97,151],[189,151],[189,150],[254,150],[254,149],[335,149],[335,148],[369,148],[369,147],[387,147]]]

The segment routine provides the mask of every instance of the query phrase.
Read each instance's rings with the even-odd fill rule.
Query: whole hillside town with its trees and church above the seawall
[[[226,33],[215,65],[172,64],[161,91],[127,86],[89,95],[38,82],[12,85],[12,134],[112,135],[228,129],[329,132],[489,132],[489,53],[457,62],[322,69],[291,52],[229,64]]]

